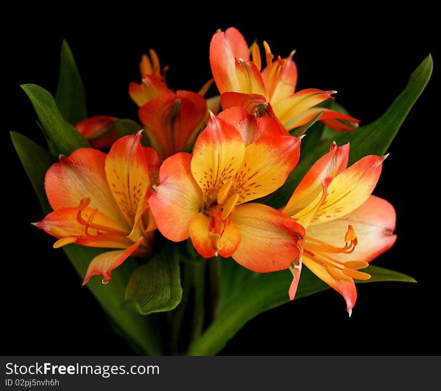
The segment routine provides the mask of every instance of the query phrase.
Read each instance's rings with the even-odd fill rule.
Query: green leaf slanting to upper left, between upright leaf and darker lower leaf
[[[53,142],[57,153],[68,156],[75,149],[90,147],[80,132],[64,119],[46,89],[35,84],[24,84],[22,88],[31,99],[45,135]]]

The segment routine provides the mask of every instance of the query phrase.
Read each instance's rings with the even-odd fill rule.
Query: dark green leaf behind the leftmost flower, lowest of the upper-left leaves
[[[49,213],[51,206],[46,197],[45,175],[49,167],[55,163],[55,157],[23,134],[12,131],[11,138],[43,211]]]

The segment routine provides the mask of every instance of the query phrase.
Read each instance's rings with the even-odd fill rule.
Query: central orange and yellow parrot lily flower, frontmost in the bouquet
[[[204,257],[232,256],[258,272],[288,268],[300,256],[304,229],[260,203],[299,160],[300,138],[282,135],[272,118],[241,107],[212,115],[193,154],[168,157],[150,197],[158,229],[172,241],[191,238]],[[277,247],[278,251],[274,251]]]

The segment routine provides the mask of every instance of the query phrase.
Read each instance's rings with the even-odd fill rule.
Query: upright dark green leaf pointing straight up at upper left
[[[86,93],[72,50],[66,39],[61,44],[60,78],[55,101],[61,114],[73,125],[87,118]]]

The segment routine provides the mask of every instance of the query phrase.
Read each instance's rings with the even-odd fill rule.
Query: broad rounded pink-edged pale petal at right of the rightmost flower
[[[395,209],[385,199],[369,196],[366,202],[353,212],[331,222],[311,225],[308,236],[341,247],[348,224],[351,224],[358,238],[357,246],[351,254],[332,254],[342,262],[364,260],[370,262],[392,247],[396,240]]]

